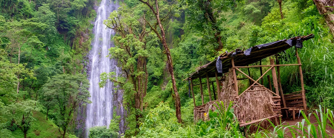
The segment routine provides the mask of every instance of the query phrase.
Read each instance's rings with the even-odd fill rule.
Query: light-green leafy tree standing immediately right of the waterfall
[[[130,99],[124,99],[124,103],[130,106],[130,111],[135,113],[136,122],[139,121],[141,114],[135,110],[143,111],[144,97],[147,92],[148,72],[146,67],[146,60],[149,56],[146,49],[145,37],[150,31],[146,29],[146,22],[144,20],[145,15],[134,15],[133,10],[129,10],[126,7],[121,7],[117,11],[113,11],[110,14],[105,24],[114,29],[118,35],[114,36],[115,47],[109,49],[110,58],[117,58],[123,72],[126,75],[126,82],[120,83],[112,77],[115,75],[108,74],[109,81],[113,81],[117,85],[121,86],[126,93],[133,91],[135,93],[127,93],[131,96]],[[137,62],[136,62],[137,61]],[[101,86],[104,86],[107,80],[102,79]],[[125,90],[128,88],[123,87],[125,83],[131,84],[133,87],[131,90]],[[132,96],[133,95],[133,96]],[[134,101],[134,102],[133,102]],[[134,103],[134,104],[131,104]],[[131,109],[134,108],[134,109]],[[136,124],[139,128],[139,124]]]

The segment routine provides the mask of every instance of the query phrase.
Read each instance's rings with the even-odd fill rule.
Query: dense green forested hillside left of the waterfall
[[[89,102],[86,75],[75,74],[85,73],[94,3],[0,1],[0,137],[75,137],[74,103]]]

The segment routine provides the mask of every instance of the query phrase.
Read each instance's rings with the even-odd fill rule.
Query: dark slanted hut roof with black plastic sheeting
[[[260,44],[246,50],[235,49],[234,51],[226,52],[218,56],[222,63],[222,73],[227,73],[229,68],[232,67],[232,58],[234,58],[233,60],[235,66],[246,66],[258,62],[266,57],[275,55],[286,49],[289,49],[295,46],[296,43],[298,45],[298,41],[302,42],[311,38],[314,38],[313,34],[309,34],[306,36],[296,36],[290,39],[283,39],[271,43]],[[251,52],[247,53],[247,51]],[[191,78],[192,80],[194,80],[197,78],[206,78],[206,73],[209,77],[215,77],[216,61],[218,57],[212,62],[196,68],[196,71],[194,73],[191,73],[188,79]]]

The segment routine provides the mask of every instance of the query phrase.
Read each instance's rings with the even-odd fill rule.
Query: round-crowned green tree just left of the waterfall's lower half
[[[90,97],[88,88],[89,82],[85,75],[55,75],[44,84],[42,95],[47,99],[42,100],[55,103],[54,110],[58,114],[57,124],[59,132],[60,128],[63,130],[63,138],[78,104],[82,103],[83,106],[86,106],[86,104],[91,103],[88,100]]]

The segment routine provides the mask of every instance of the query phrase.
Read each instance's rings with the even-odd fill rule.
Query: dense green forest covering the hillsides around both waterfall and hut
[[[75,137],[77,103],[83,102],[84,106],[90,102],[85,66],[93,37],[91,22],[96,16],[93,6],[98,2],[0,0],[0,137],[24,137],[25,134],[61,137],[64,131],[65,137]],[[298,129],[301,132],[295,133],[296,136],[327,137],[324,128],[333,127],[333,123],[321,122],[332,122],[334,45],[325,19],[312,0],[283,1],[283,19],[276,0],[157,2],[173,59],[183,122],[177,123],[175,118],[172,82],[164,48],[155,33],[160,32],[155,15],[138,0],[118,1],[120,8],[105,23],[119,29],[112,40],[115,47],[109,52],[111,58],[118,58],[119,66],[127,73],[117,79],[115,73],[103,73],[100,85],[113,81],[124,94],[123,103],[128,109],[125,137],[243,137],[230,106],[207,113],[210,120],[194,122],[188,82],[183,80],[197,66],[212,61],[226,50],[310,33],[315,38],[303,43],[299,55],[308,107],[328,108],[317,110],[322,115],[317,120],[319,127],[314,128],[315,124],[303,114],[305,120],[301,123],[310,129],[302,127],[304,124],[282,125],[274,127],[272,132],[259,130],[253,136],[284,137],[283,129],[291,132]],[[297,63],[293,48],[279,53],[278,57],[284,64]],[[262,63],[269,64],[269,60],[263,59]],[[251,76],[260,77],[258,70],[251,69]],[[281,67],[285,93],[300,91],[298,74],[296,66]],[[139,90],[136,85],[140,81],[136,80],[146,85],[140,85]],[[246,89],[248,82],[240,83],[240,90]],[[216,89],[215,84],[213,87]],[[198,106],[199,88],[194,87],[194,92]],[[138,94],[140,104],[136,105]],[[204,89],[204,102],[208,101]],[[109,128],[91,128],[90,137],[118,137],[117,122],[112,120]]]

